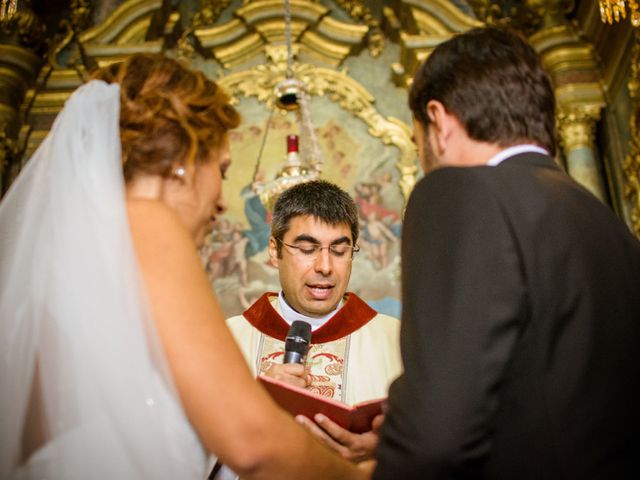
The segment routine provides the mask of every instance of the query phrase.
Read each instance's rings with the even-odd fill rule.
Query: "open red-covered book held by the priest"
[[[386,400],[379,398],[351,406],[264,375],[260,375],[258,380],[276,403],[292,415],[304,415],[313,420],[316,413],[322,413],[353,433],[371,430],[371,422],[382,413]]]

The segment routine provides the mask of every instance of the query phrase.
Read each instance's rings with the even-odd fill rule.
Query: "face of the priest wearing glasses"
[[[336,308],[349,284],[352,246],[346,223],[328,225],[311,215],[292,218],[282,242],[269,241],[287,303],[310,317]]]

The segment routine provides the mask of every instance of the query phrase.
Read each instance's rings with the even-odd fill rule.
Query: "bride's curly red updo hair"
[[[120,84],[124,176],[171,175],[179,165],[207,160],[240,123],[229,97],[202,72],[161,54],[135,54],[95,71]]]

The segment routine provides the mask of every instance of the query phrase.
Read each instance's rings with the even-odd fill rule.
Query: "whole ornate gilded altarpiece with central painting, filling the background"
[[[270,212],[254,187],[274,178],[284,161],[286,135],[300,133],[298,114],[274,106],[274,88],[292,73],[309,94],[322,154],[320,178],[348,191],[359,208],[362,250],[356,254],[349,289],[377,310],[398,316],[402,212],[420,175],[407,88],[438,43],[483,23],[515,20],[498,15],[488,0],[403,0],[382,7],[357,0],[290,0],[292,50],[287,54],[280,0],[115,3],[100,24],[88,28],[90,2],[72,2],[66,33],[52,42],[19,109],[28,118],[19,135],[17,125],[8,131],[11,142],[4,141],[3,151],[20,144],[25,152],[4,155],[5,176],[24,164],[90,68],[134,52],[164,52],[202,70],[230,93],[244,118],[230,135],[233,163],[224,185],[228,211],[201,252],[225,313],[235,315],[264,291],[279,288],[267,255]],[[381,11],[373,15],[369,3]],[[577,154],[586,152],[597,165],[593,131],[606,96],[592,46],[568,21],[561,0],[524,4],[529,9],[520,15],[522,30],[541,53],[556,89],[563,150],[559,163],[575,166],[582,159]],[[635,105],[637,52],[636,37],[629,83]],[[17,117],[17,106],[11,108]],[[633,147],[617,186],[624,216],[640,236],[637,108],[633,112]]]

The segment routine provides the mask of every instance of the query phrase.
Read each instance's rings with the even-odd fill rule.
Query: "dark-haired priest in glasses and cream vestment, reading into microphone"
[[[278,198],[269,254],[282,290],[265,293],[228,325],[254,374],[264,374],[353,404],[384,397],[400,373],[399,322],[347,293],[358,217],[336,185],[313,181]],[[289,326],[312,326],[305,366],[282,364]],[[326,418],[300,419],[352,460],[370,456],[377,433],[352,434]],[[378,420],[379,421],[379,420]],[[342,438],[340,443],[337,437]]]

